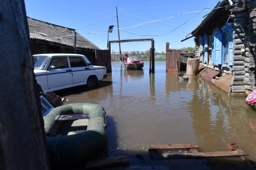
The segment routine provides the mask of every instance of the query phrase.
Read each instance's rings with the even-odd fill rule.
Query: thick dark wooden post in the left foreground
[[[49,169],[25,4],[0,5],[0,169]]]

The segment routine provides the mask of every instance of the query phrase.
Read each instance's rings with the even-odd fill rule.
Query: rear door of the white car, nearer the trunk
[[[70,56],[69,62],[73,72],[73,84],[85,83],[90,71],[85,60],[80,56]]]

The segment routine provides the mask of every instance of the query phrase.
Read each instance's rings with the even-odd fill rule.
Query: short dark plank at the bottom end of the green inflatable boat
[[[94,160],[86,163],[86,168],[100,168],[106,166],[114,165],[126,165],[129,163],[129,157],[119,156],[119,157],[106,157],[100,160]]]

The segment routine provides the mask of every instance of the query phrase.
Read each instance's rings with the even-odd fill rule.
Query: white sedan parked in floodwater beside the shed
[[[105,66],[93,66],[81,54],[36,54],[34,73],[44,93],[87,84],[97,86],[106,78]]]

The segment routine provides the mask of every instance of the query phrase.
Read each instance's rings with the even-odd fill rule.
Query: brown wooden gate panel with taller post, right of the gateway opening
[[[180,71],[180,50],[169,49],[169,42],[166,42],[166,71]]]

